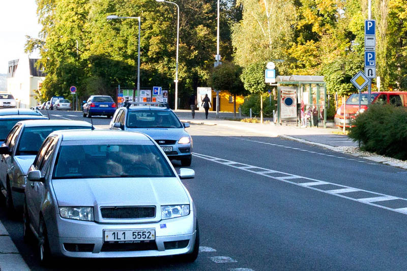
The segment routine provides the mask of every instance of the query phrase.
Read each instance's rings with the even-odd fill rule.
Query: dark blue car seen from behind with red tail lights
[[[111,117],[116,110],[116,104],[110,96],[92,95],[82,106],[82,114],[85,117],[102,116]]]

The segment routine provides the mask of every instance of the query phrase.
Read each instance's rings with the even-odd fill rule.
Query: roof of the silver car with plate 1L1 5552
[[[151,139],[138,132],[114,131],[114,130],[61,130],[51,133],[51,135],[59,135],[63,137],[63,141],[73,140],[113,140],[118,142],[121,140],[145,140]]]

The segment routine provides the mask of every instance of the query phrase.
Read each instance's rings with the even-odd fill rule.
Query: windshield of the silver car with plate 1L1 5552
[[[174,177],[156,145],[63,145],[52,179]]]

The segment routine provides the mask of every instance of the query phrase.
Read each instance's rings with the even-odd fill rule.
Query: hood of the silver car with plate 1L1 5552
[[[134,206],[189,204],[176,177],[52,180],[59,206]]]

